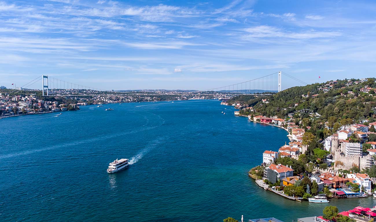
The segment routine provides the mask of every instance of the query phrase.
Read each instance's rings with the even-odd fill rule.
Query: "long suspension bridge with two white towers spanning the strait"
[[[249,81],[244,81],[232,85],[226,85],[217,88],[211,88],[207,90],[169,90],[168,93],[163,92],[145,92],[147,90],[140,90],[141,92],[135,92],[132,90],[103,90],[99,88],[93,88],[82,84],[72,83],[64,81],[62,79],[54,78],[53,76],[42,75],[28,82],[20,87],[20,91],[23,88],[31,87],[34,84],[42,83],[42,96],[56,97],[56,96],[238,96],[238,95],[258,95],[258,96],[270,96],[273,93],[280,92],[282,90],[282,75],[290,79],[293,79],[300,84],[308,85],[287,73],[282,71],[272,73],[266,76],[262,76]]]

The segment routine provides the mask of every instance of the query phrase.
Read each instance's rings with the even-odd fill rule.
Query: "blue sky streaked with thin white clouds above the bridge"
[[[0,0],[0,24],[7,87],[44,74],[101,89],[203,90],[279,70],[308,83],[376,70],[374,1]]]

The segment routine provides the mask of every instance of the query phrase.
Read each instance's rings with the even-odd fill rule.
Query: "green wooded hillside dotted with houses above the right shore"
[[[359,123],[362,120],[375,121],[376,89],[375,78],[344,79],[292,87],[268,97],[237,96],[230,102],[240,101],[253,106],[255,112],[241,111],[241,114],[262,114],[287,118],[293,114],[293,121],[301,127],[312,126],[314,134],[323,138],[323,122],[329,120],[330,128],[343,124]],[[366,87],[366,89],[364,89]],[[369,90],[369,93],[361,91]],[[267,99],[262,101],[261,99]],[[318,113],[320,116],[318,116]],[[337,123],[337,124],[336,124]],[[365,123],[366,124],[366,123]],[[334,127],[335,128],[335,127]],[[335,129],[333,129],[334,131]],[[329,134],[330,132],[326,132]]]

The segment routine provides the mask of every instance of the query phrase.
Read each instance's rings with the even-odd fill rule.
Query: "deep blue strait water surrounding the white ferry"
[[[218,101],[81,106],[54,116],[0,120],[0,221],[202,222],[243,214],[289,222],[328,205],[259,188],[247,172],[264,150],[288,141],[287,132],[234,116]],[[133,164],[108,174],[116,158]],[[329,204],[376,205],[373,197]]]

